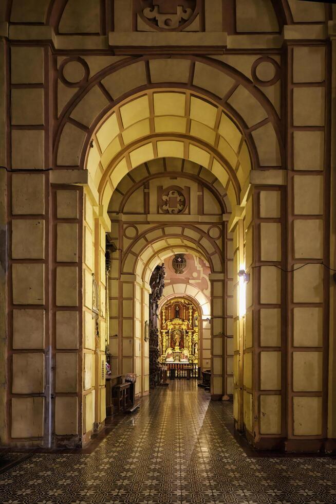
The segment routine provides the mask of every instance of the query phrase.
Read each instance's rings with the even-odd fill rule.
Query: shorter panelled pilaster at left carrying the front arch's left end
[[[82,248],[83,189],[78,186],[52,186],[52,281],[51,323],[55,339],[51,344],[49,384],[54,398],[53,443],[77,446],[85,433],[82,407]],[[86,278],[85,278],[86,280]],[[92,282],[92,279],[89,279]],[[87,280],[86,280],[87,282]],[[87,289],[87,283],[85,289]],[[92,292],[92,291],[91,291]],[[84,302],[87,298],[84,295]],[[47,311],[48,315],[48,311]],[[50,328],[51,329],[51,328]],[[50,336],[52,335],[50,330]],[[85,404],[85,400],[84,400]],[[92,426],[93,420],[90,422]],[[84,428],[84,431],[83,431]]]

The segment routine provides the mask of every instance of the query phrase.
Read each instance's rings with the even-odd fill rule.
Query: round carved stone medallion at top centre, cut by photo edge
[[[176,29],[188,22],[196,9],[196,0],[142,0],[142,14],[159,28]],[[145,7],[144,7],[145,6]]]

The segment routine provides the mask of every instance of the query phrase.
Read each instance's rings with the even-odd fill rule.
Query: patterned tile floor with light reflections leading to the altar
[[[195,382],[170,382],[90,454],[24,454],[0,466],[0,502],[336,503],[335,458],[257,455],[227,428],[231,411]]]

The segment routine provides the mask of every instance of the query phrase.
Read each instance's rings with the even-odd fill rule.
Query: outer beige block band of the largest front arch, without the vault
[[[164,73],[161,79],[157,78],[153,83],[153,77],[148,76],[152,76],[154,71],[153,62],[160,61],[168,68],[175,65],[176,61],[182,62],[186,68],[185,75],[191,71],[193,73],[191,84],[188,83],[189,78],[185,80],[183,77],[177,78],[173,84],[166,82]],[[275,60],[274,66],[277,66]],[[54,135],[54,164],[84,167],[92,134],[101,127],[110,111],[141,91],[154,89],[171,89],[175,92],[187,89],[203,101],[208,100],[213,106],[220,106],[222,111],[229,114],[235,127],[244,131],[254,168],[281,166],[284,147],[279,118],[265,94],[232,66],[218,60],[189,56],[143,57],[119,64],[116,61],[99,71],[79,89],[60,116]],[[263,143],[265,138],[268,142]],[[268,143],[272,149],[267,151]],[[276,152],[276,159],[269,158],[271,152],[273,156]]]

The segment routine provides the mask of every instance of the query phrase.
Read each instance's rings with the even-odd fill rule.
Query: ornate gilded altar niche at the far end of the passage
[[[188,299],[171,299],[159,315],[160,362],[198,364],[199,313]]]

